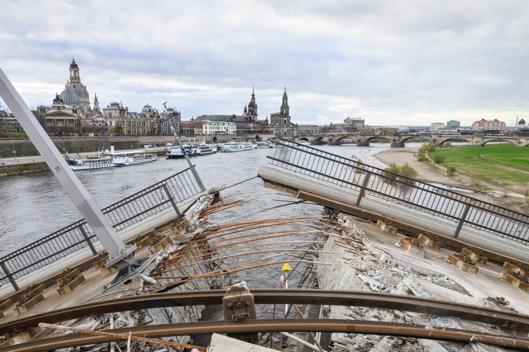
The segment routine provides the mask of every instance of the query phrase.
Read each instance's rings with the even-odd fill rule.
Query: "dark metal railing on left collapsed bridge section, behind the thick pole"
[[[177,204],[200,192],[187,168],[103,208],[102,212],[114,229],[121,231],[170,207],[180,215]],[[9,281],[18,290],[17,278],[81,249],[89,248],[97,254],[94,246],[97,242],[86,221],[79,220],[0,258],[0,284]]]

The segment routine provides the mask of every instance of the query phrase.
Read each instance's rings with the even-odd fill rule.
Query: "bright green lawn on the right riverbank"
[[[428,154],[445,157],[443,166],[453,165],[457,172],[505,185],[529,185],[529,147],[513,144],[491,144],[484,147],[454,146],[437,148]],[[517,171],[519,170],[519,171]],[[525,171],[525,172],[524,172]]]

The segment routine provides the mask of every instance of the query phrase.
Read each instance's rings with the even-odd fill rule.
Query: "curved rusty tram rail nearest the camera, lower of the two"
[[[373,334],[444,341],[462,341],[466,343],[473,342],[508,347],[515,350],[529,350],[529,340],[514,338],[512,336],[486,334],[484,332],[461,329],[428,329],[421,325],[400,324],[386,321],[359,321],[346,319],[246,319],[243,321],[197,321],[181,324],[126,327],[108,331],[116,334],[127,334],[130,331],[136,336],[144,337],[168,337],[213,333],[235,334],[237,332],[328,331],[345,332],[347,334]],[[107,336],[71,334],[0,348],[0,352],[45,352],[53,349],[102,344],[116,340],[118,339]]]

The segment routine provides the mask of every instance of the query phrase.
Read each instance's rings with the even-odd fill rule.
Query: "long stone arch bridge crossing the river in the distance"
[[[299,137],[298,140],[305,140],[314,145],[340,145],[344,138],[350,138],[356,141],[357,146],[369,146],[372,140],[384,140],[391,142],[391,147],[405,147],[406,141],[427,141],[443,145],[445,142],[454,140],[468,141],[473,146],[484,146],[488,142],[510,142],[517,147],[526,147],[529,145],[529,137],[508,137],[508,136],[461,136],[461,135],[399,135],[399,136],[382,136],[382,135],[311,135]]]

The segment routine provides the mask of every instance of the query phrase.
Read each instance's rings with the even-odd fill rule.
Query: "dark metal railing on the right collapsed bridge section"
[[[529,244],[529,216],[525,214],[284,138],[276,143],[278,148],[274,156],[268,157],[272,165],[340,187],[356,189],[359,192],[357,206],[363,195],[369,194],[456,221],[458,226],[454,237],[459,235],[465,224]]]

